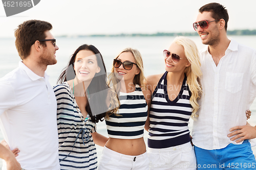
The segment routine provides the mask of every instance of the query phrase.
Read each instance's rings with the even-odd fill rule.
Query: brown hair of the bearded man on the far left
[[[51,29],[51,23],[41,20],[27,20],[20,24],[14,32],[16,37],[15,45],[19,57],[22,60],[26,59],[30,55],[31,45],[36,40],[45,39],[45,31],[50,31]],[[40,43],[46,46],[46,42],[42,41]]]

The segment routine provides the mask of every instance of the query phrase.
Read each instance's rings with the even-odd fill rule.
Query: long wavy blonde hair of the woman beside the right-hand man
[[[176,37],[174,39],[174,43],[184,47],[185,56],[190,63],[190,65],[185,69],[185,74],[187,76],[187,85],[191,91],[191,97],[189,100],[193,107],[191,118],[196,120],[196,117],[198,117],[196,112],[199,109],[197,101],[200,99],[202,94],[202,86],[199,82],[199,78],[202,76],[199,51],[193,40],[183,36]]]

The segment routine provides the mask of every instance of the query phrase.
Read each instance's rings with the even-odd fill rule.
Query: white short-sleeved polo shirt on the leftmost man
[[[21,61],[0,79],[0,129],[11,150],[20,150],[16,159],[28,170],[60,169],[57,102],[48,79]]]

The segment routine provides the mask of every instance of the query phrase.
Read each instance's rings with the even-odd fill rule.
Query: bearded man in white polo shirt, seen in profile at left
[[[0,128],[14,154],[0,144],[3,169],[60,169],[56,98],[45,70],[56,64],[58,50],[46,21],[28,20],[15,31],[22,61],[0,79]]]

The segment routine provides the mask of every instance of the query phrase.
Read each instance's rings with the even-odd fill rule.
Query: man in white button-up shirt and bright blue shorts
[[[210,3],[193,24],[207,44],[200,52],[203,94],[193,126],[198,169],[256,168],[248,141],[256,127],[246,125],[244,114],[256,96],[256,51],[228,39],[227,22],[225,7]]]

